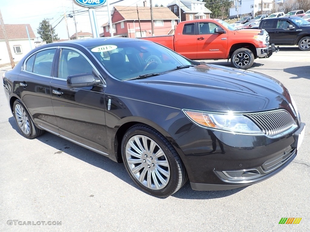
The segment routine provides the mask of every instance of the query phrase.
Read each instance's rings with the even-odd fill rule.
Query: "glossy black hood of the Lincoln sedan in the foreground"
[[[201,64],[126,82],[133,87],[131,98],[179,109],[290,111],[287,89],[276,79],[253,71]]]

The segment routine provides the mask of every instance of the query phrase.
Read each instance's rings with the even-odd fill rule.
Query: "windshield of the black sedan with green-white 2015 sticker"
[[[131,41],[88,48],[101,65],[119,80],[159,75],[179,67],[197,65],[174,51],[149,41]]]

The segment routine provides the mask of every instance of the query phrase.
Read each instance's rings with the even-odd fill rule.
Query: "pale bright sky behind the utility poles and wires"
[[[153,5],[163,4],[164,6],[166,6],[171,1],[152,0]],[[55,26],[63,18],[64,11],[67,15],[72,13],[72,0],[1,0],[0,2],[0,10],[5,24],[30,24],[34,34],[37,37],[38,34],[36,28],[38,28],[39,23],[43,19],[51,19],[50,22],[52,26]],[[117,2],[117,0],[108,0],[108,2],[110,4],[111,10],[113,7],[112,3]],[[118,6],[136,6],[136,4],[138,4],[138,6],[143,6],[143,0],[124,0],[122,2],[115,3],[115,5]],[[74,10],[83,11],[87,9],[74,5]],[[105,6],[96,10],[96,15],[99,32],[102,33],[103,29],[100,28],[100,26],[108,21],[107,7]],[[81,30],[83,32],[91,32],[89,15],[87,11],[81,15],[77,15],[76,19],[78,32]],[[72,36],[75,33],[73,18],[68,17],[67,22],[69,35]],[[58,33],[58,37],[61,39],[68,38],[64,20],[62,20],[60,24],[55,27],[55,32]],[[41,38],[38,38],[38,40],[40,41]]]

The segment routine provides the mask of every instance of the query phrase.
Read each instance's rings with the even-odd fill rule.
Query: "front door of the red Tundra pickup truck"
[[[197,26],[197,59],[223,59],[228,45],[226,30],[218,24],[208,22],[197,22]],[[225,33],[215,33],[216,27],[224,29]]]

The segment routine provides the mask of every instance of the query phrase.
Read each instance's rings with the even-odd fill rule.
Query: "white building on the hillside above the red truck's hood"
[[[235,7],[229,8],[229,18],[243,17],[245,15],[254,16],[257,11],[261,11],[263,2],[263,13],[273,9],[275,0],[234,0]]]

